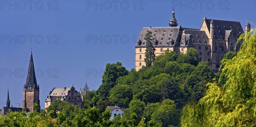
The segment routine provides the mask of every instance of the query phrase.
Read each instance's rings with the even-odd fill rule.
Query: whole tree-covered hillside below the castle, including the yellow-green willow
[[[0,116],[0,126],[255,127],[256,34],[251,32],[239,38],[239,52],[225,54],[218,72],[199,62],[195,48],[179,55],[165,51],[139,71],[108,63],[99,89],[85,85],[84,108],[56,100],[28,118],[24,111]],[[109,120],[106,107],[115,104],[125,111]]]

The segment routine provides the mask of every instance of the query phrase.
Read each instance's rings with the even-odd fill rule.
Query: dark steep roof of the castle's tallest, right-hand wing
[[[210,31],[211,19],[206,19],[206,25]],[[239,38],[244,33],[240,22],[227,21],[227,20],[214,20],[214,35],[216,39],[225,39],[225,33],[227,30],[233,29],[236,38]]]

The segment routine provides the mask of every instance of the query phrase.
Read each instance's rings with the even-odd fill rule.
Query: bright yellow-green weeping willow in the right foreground
[[[253,35],[251,33],[254,32]],[[251,30],[242,34],[240,51],[233,59],[224,59],[221,76],[227,78],[220,87],[208,83],[206,95],[198,104],[183,108],[183,127],[254,127],[256,126],[256,34]]]

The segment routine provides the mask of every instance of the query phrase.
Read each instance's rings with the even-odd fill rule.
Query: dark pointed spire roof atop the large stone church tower
[[[38,85],[35,78],[35,68],[34,68],[32,52],[31,52],[30,61],[29,61],[29,71],[28,71],[28,76],[26,78],[25,88],[32,89],[34,87],[38,88]]]

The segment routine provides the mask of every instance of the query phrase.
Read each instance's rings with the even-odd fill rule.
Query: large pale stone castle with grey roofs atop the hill
[[[135,70],[145,66],[145,34],[152,32],[151,42],[154,54],[159,56],[164,51],[175,51],[185,54],[189,48],[198,51],[200,61],[208,61],[214,71],[220,68],[220,62],[229,51],[239,51],[241,42],[237,39],[244,33],[240,22],[226,20],[210,20],[204,17],[200,29],[177,26],[173,9],[170,27],[143,28],[135,46]],[[245,32],[250,31],[250,23],[245,25]],[[235,49],[236,46],[236,49]]]

